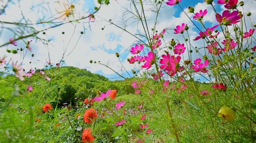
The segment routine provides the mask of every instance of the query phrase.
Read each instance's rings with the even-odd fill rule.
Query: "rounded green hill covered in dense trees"
[[[100,74],[94,74],[86,69],[76,67],[54,67],[44,70],[45,74],[40,74],[40,70],[32,77],[26,77],[24,81],[19,81],[14,75],[5,77],[6,81],[14,82],[19,88],[27,90],[28,86],[33,87],[33,95],[41,95],[45,92],[46,100],[74,104],[75,98],[85,99],[89,95],[96,96],[97,92],[106,92],[110,89],[117,89],[119,95],[134,93],[131,83],[128,81],[110,81]],[[51,82],[45,79],[48,76]],[[49,97],[49,99],[47,99]],[[51,97],[51,98],[50,98]]]

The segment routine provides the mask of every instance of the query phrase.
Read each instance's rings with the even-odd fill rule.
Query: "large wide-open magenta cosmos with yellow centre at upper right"
[[[222,13],[222,16],[219,13],[216,14],[217,22],[219,22],[223,25],[231,25],[231,24],[240,22],[240,19],[242,17],[243,17],[243,15],[239,14],[238,11],[233,11],[232,13],[230,13],[229,10],[225,10]]]

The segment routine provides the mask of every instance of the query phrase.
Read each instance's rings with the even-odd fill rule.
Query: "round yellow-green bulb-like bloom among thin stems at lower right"
[[[231,107],[223,106],[219,110],[219,117],[222,117],[225,121],[232,121],[235,119],[235,111]]]

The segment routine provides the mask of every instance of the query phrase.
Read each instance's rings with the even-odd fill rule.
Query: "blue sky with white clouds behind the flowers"
[[[95,6],[99,6],[99,4],[97,4],[97,0],[72,1],[75,1],[73,3],[75,6],[74,17],[70,19],[61,17],[58,20],[67,21],[81,18],[82,16],[88,16],[89,13],[94,12]],[[146,10],[145,14],[146,18],[148,19],[147,24],[150,28],[152,28],[156,14],[150,11],[151,6],[149,1],[151,0],[145,0],[144,9]],[[223,5],[216,4],[216,1],[217,0],[214,0],[213,5],[216,7],[217,12],[222,13],[224,7]],[[245,13],[252,12],[252,15],[255,16],[255,0],[244,0],[244,2],[246,7],[244,10]],[[30,23],[36,23],[39,21],[39,19],[45,20],[52,18],[54,13],[63,12],[66,9],[65,6],[68,7],[70,4],[71,0],[20,0],[19,4],[17,0],[13,0],[8,3],[5,12],[0,15],[0,21],[17,22],[22,18],[22,16],[24,16],[30,20]],[[204,0],[182,0],[180,5],[187,13],[189,6],[195,7],[195,12],[199,12],[201,9],[207,9],[208,13],[204,17],[205,25],[212,27],[218,24],[215,19],[215,12],[210,5],[204,3]],[[87,69],[92,73],[98,73],[106,76],[110,80],[120,79],[112,70],[99,64],[89,63],[90,60],[100,61],[118,73],[122,74],[123,72],[125,77],[129,77],[129,75],[125,73],[124,69],[121,67],[121,63],[119,62],[118,58],[116,58],[115,53],[119,53],[123,66],[128,70],[129,74],[131,74],[131,68],[134,66],[128,63],[127,58],[131,57],[129,50],[134,44],[138,43],[136,42],[137,39],[122,29],[119,29],[114,25],[110,25],[105,21],[111,19],[112,22],[118,26],[124,26],[124,23],[122,22],[122,20],[124,20],[125,29],[127,31],[131,32],[132,34],[143,34],[142,26],[137,22],[134,22],[131,15],[125,13],[125,9],[130,9],[130,1],[110,0],[110,4],[108,6],[102,6],[101,9],[95,13],[94,22],[89,22],[88,19],[85,19],[78,23],[67,23],[53,29],[48,29],[45,31],[45,35],[40,32],[38,37],[42,39],[51,39],[47,43],[43,43],[33,38],[25,39],[25,41],[30,41],[31,39],[33,40],[30,44],[32,51],[28,51],[28,55],[34,54],[35,56],[33,57],[32,61],[31,56],[25,57],[22,62],[22,67],[26,71],[29,71],[34,67],[37,69],[42,69],[45,67],[46,61],[49,60],[49,57],[51,59],[51,63],[59,63],[61,57],[63,56],[63,49],[67,48],[67,52],[64,55],[65,66],[74,66],[80,69]],[[193,16],[191,13],[188,13],[188,15],[190,18]],[[58,17],[58,15],[54,15],[53,17]],[[246,18],[246,21],[248,26],[250,26],[248,18]],[[184,42],[182,35],[173,34],[173,28],[175,28],[177,25],[181,25],[182,23],[188,24],[188,32],[191,39],[198,36],[198,29],[193,26],[192,22],[187,18],[185,13],[182,12],[179,6],[168,6],[164,4],[158,16],[158,22],[159,23],[156,26],[156,30],[162,31],[163,29],[170,28],[170,30],[167,30],[167,34],[164,35],[165,43],[171,41],[172,38]],[[193,22],[200,26],[197,21],[193,20]],[[256,19],[252,19],[252,23],[256,23]],[[11,25],[5,26],[14,28]],[[47,27],[49,27],[48,24],[34,25],[36,30],[42,30]],[[15,34],[7,29],[2,30],[3,32],[1,32],[0,35],[0,43],[6,43],[9,41],[9,38],[13,38],[15,36]],[[84,34],[81,35],[79,39],[81,31],[83,31]],[[24,31],[24,33],[26,32],[29,31]],[[65,32],[65,34],[62,34],[62,32]],[[22,40],[16,42],[18,42],[18,48],[26,46]],[[203,46],[203,42],[199,41],[191,41],[191,44],[197,47]],[[75,45],[76,47],[74,48]],[[15,49],[17,47],[13,45],[8,45],[8,47],[0,47],[0,57],[6,56],[7,59],[12,58],[13,61],[21,61],[21,54],[13,55],[6,53],[6,48]],[[74,50],[72,50],[73,48]],[[71,54],[68,55],[70,52]],[[184,58],[187,58],[187,54],[188,53],[184,54]],[[197,58],[196,55],[193,57]],[[30,61],[32,62],[31,64],[29,63]]]

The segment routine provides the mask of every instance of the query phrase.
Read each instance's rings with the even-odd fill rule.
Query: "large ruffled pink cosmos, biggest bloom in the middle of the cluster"
[[[177,57],[174,57],[174,56],[170,56],[168,53],[167,55],[162,55],[162,58],[160,60],[160,63],[162,64],[160,66],[160,69],[164,69],[164,70],[167,70],[171,76],[174,76],[174,74],[177,73],[177,71],[179,70],[179,62],[180,62],[180,59],[181,57],[180,56],[177,56]]]

